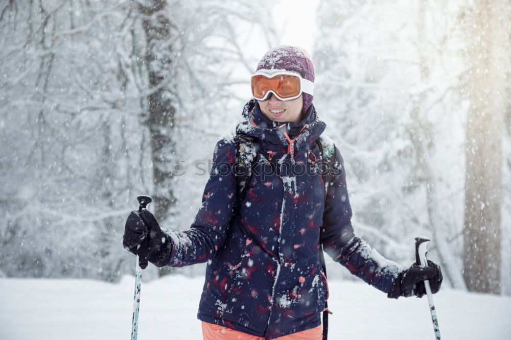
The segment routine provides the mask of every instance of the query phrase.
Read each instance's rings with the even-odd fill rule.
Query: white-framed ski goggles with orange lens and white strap
[[[289,71],[276,71],[270,75],[263,71],[255,72],[251,85],[252,96],[258,101],[268,100],[270,93],[281,101],[292,101],[298,98],[301,92],[312,95],[314,91],[313,82]]]

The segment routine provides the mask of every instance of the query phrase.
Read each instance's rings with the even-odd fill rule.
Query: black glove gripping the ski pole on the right
[[[426,267],[412,264],[409,269],[399,274],[387,297],[391,299],[397,299],[400,296],[422,298],[426,295],[424,280],[429,280],[431,293],[437,293],[443,280],[440,266],[430,260],[428,260],[428,266]]]

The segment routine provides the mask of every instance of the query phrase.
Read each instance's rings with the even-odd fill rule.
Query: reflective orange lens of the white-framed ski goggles
[[[255,99],[265,100],[270,90],[282,100],[298,97],[301,93],[300,78],[290,75],[252,76],[252,95]]]

